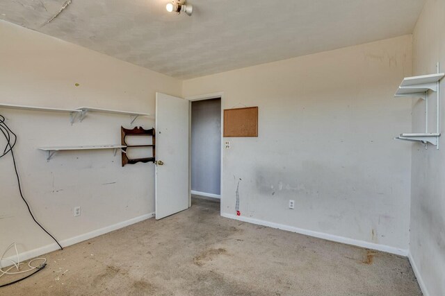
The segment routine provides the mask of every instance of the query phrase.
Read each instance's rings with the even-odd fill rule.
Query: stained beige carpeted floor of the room
[[[222,218],[219,209],[195,197],[179,214],[52,252],[47,268],[0,295],[421,295],[407,258]]]

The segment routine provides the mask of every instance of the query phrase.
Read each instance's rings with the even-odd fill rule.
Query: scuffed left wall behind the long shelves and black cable
[[[154,114],[155,92],[181,95],[179,80],[5,21],[0,40],[0,103]],[[112,150],[58,153],[47,162],[34,148],[120,143],[120,126],[130,127],[128,116],[90,114],[70,125],[68,114],[6,109],[0,114],[19,137],[15,155],[24,195],[60,241],[154,212],[153,164],[122,168],[120,154],[113,157]],[[152,128],[154,121],[140,118],[135,124]],[[78,218],[75,206],[82,207]],[[20,252],[53,243],[26,211],[8,155],[0,159],[0,250],[13,241]]]

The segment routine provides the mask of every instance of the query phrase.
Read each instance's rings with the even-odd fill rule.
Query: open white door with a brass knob
[[[156,220],[188,209],[188,100],[156,93]]]

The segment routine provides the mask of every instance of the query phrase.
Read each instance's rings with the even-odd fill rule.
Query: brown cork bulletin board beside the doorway
[[[224,110],[224,137],[258,137],[258,107]]]

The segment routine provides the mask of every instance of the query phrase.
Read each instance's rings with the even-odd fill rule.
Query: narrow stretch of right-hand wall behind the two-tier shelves
[[[413,35],[413,73],[445,71],[445,1],[428,0]],[[445,80],[440,84],[441,131],[445,131]],[[435,94],[430,99],[430,127],[435,132]],[[412,100],[410,100],[412,101]],[[414,101],[412,130],[423,132],[423,101]],[[409,132],[409,131],[408,131]],[[440,150],[421,144],[412,146],[412,202],[410,259],[425,295],[445,295],[445,141]]]

